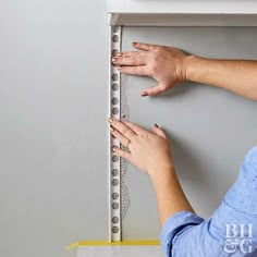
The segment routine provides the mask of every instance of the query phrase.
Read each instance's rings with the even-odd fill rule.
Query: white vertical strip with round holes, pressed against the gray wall
[[[120,72],[112,64],[111,59],[121,51],[121,26],[110,26],[110,115],[121,119],[121,76]],[[110,135],[110,211],[109,211],[109,241],[121,241],[121,159],[113,154],[111,148],[120,147],[118,139]]]

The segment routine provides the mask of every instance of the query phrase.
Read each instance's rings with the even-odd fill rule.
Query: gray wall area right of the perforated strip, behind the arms
[[[132,41],[173,46],[207,58],[257,59],[257,27],[125,27],[124,51],[133,50]],[[146,128],[158,123],[168,132],[182,186],[197,213],[209,217],[235,181],[244,155],[257,145],[257,102],[196,83],[142,98],[140,91],[154,85],[154,79],[124,75],[123,112]],[[131,204],[123,238],[158,237],[149,178],[130,164],[125,185]]]

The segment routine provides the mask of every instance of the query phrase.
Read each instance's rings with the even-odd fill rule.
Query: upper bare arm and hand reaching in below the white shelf
[[[133,46],[138,51],[121,52],[112,61],[122,73],[146,75],[158,82],[142,96],[156,96],[181,82],[193,81],[257,100],[257,61],[205,59],[172,47],[140,42]]]

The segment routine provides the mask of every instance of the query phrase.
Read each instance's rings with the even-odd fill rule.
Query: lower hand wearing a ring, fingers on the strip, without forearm
[[[112,148],[119,156],[149,175],[162,170],[174,170],[170,140],[157,124],[151,133],[127,121],[109,119],[109,122],[111,134],[128,149]]]

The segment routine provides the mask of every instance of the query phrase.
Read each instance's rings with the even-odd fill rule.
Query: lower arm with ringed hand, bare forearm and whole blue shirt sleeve
[[[194,213],[183,193],[164,132],[157,125],[150,133],[134,123],[112,119],[110,125],[111,134],[128,148],[126,151],[114,147],[113,151],[148,173],[152,181],[162,225],[160,242],[167,257],[255,256],[257,148],[245,157],[241,174],[220,207],[204,220]],[[241,234],[242,224],[253,228],[253,232],[244,232],[245,237]],[[228,228],[230,234],[236,231],[235,237],[228,238]]]

